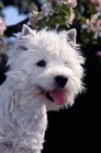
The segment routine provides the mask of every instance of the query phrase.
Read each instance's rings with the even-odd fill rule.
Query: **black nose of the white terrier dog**
[[[64,75],[55,76],[55,81],[59,87],[64,87],[67,84],[68,78]]]

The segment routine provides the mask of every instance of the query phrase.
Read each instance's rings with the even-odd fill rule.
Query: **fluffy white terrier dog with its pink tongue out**
[[[23,25],[0,86],[0,153],[41,153],[46,111],[74,104],[83,89],[83,61],[76,30],[36,32]]]

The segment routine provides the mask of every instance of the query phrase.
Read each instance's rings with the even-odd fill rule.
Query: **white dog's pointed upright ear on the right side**
[[[72,30],[69,30],[68,32],[67,32],[67,38],[70,40],[70,42],[72,42],[72,43],[76,43],[76,36],[77,36],[77,31],[76,31],[76,28],[72,28]]]

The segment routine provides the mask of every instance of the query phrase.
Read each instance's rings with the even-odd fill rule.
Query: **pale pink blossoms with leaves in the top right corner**
[[[78,0],[72,24],[78,23],[82,46],[101,44],[101,0]]]

